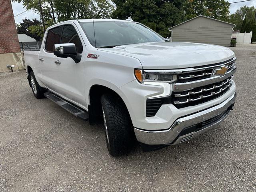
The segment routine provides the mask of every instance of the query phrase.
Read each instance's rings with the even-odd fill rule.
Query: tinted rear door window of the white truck
[[[53,52],[54,44],[60,43],[61,30],[62,30],[62,26],[48,30],[46,44],[45,44],[46,51]]]

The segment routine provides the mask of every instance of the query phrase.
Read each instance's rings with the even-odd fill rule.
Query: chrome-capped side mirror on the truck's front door
[[[82,56],[76,52],[74,43],[55,44],[53,54],[61,58],[72,58],[76,63],[81,61]]]

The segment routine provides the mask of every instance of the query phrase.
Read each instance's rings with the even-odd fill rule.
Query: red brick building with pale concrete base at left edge
[[[0,72],[9,71],[6,65],[24,69],[11,1],[0,0]]]

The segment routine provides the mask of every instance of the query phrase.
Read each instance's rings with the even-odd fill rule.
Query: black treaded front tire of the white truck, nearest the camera
[[[101,104],[104,121],[106,120],[104,125],[108,152],[112,156],[128,154],[133,144],[134,132],[124,102],[118,96],[104,94]]]

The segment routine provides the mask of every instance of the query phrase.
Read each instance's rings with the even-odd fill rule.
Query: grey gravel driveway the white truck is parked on
[[[108,154],[103,125],[34,98],[25,71],[0,74],[0,191],[256,191],[256,45],[232,50],[238,96],[220,126],[118,158]]]

